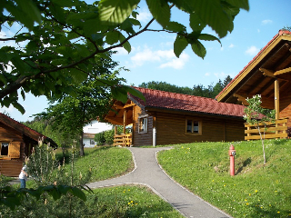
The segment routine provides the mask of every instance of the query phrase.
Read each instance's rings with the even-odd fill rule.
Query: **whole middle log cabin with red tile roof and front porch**
[[[137,88],[146,102],[128,94],[127,102],[114,101],[105,115],[110,124],[124,125],[115,145],[140,146],[244,140],[243,105],[215,99]],[[125,134],[125,126],[132,133]]]

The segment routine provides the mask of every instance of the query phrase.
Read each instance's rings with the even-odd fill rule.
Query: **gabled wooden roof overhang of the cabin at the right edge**
[[[243,103],[254,94],[262,95],[262,106],[274,104],[275,81],[280,93],[291,87],[291,33],[280,31],[216,96],[218,102]],[[273,108],[270,108],[273,109]]]

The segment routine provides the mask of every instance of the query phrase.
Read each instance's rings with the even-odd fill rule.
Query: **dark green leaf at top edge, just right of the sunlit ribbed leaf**
[[[152,13],[157,23],[166,28],[170,22],[171,10],[166,0],[146,0],[149,11]]]

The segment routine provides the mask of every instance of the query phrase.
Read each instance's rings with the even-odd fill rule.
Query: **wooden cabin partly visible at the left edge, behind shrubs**
[[[42,137],[45,144],[49,142],[52,147],[57,147],[52,139],[0,113],[0,173],[18,176],[25,156],[31,154]]]

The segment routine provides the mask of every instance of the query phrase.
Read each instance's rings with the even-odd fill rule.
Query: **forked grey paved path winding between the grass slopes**
[[[166,202],[171,203],[177,211],[186,217],[230,217],[210,203],[206,203],[195,194],[187,191],[162,170],[156,161],[156,153],[161,150],[170,149],[169,147],[130,147],[128,149],[132,152],[135,160],[135,170],[133,172],[114,179],[88,183],[87,185],[94,189],[128,183],[144,184],[166,200]]]

